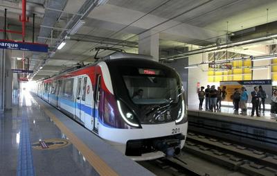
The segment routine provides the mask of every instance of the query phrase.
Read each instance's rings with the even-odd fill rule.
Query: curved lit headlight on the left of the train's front
[[[139,127],[139,123],[136,121],[134,114],[125,106],[117,100],[118,110],[123,120],[132,127]]]

